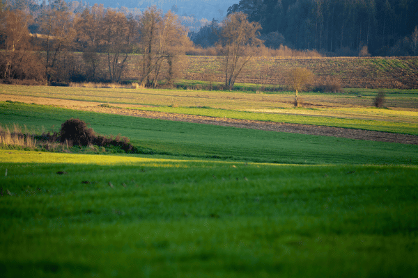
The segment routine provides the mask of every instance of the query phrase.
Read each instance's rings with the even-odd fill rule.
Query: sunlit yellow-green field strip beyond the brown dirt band
[[[304,108],[293,108],[293,92],[255,94],[210,90],[97,89],[0,85],[0,100],[42,99],[67,106],[106,104],[146,111],[263,120],[418,135],[417,90],[387,90],[386,109],[373,108],[377,90],[347,89],[341,94],[304,92]],[[359,97],[359,95],[361,97]],[[56,101],[55,101],[56,100]],[[91,104],[89,101],[95,102]]]

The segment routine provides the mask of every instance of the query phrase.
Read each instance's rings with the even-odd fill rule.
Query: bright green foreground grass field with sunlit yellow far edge
[[[5,277],[418,271],[416,166],[0,155]]]

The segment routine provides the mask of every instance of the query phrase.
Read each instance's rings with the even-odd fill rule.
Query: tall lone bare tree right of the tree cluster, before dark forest
[[[254,47],[262,44],[258,39],[261,25],[249,22],[242,12],[228,15],[222,22],[221,42],[224,54],[225,86],[231,90],[241,70],[254,55]]]

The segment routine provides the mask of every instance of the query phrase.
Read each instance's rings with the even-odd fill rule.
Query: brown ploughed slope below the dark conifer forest
[[[224,80],[222,58],[187,56],[185,79]],[[418,58],[272,58],[258,57],[242,71],[237,82],[285,84],[293,67],[314,72],[315,83],[337,79],[345,88],[418,88]]]

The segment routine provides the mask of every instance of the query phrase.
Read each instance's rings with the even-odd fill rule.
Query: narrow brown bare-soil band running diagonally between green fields
[[[302,133],[318,136],[334,136],[359,140],[375,140],[418,145],[418,136],[409,134],[365,131],[362,129],[345,129],[341,127],[330,126],[314,126],[309,124],[286,124],[280,122],[237,120],[220,117],[206,117],[176,113],[164,113],[156,111],[141,111],[137,109],[130,109],[135,107],[133,105],[123,104],[117,104],[120,107],[101,107],[100,103],[90,101],[72,101],[65,99],[49,99],[44,97],[20,97],[15,95],[0,95],[0,101],[6,100],[20,101],[29,104],[35,103],[43,105],[55,105],[75,110],[92,111],[97,113],[128,115],[134,117],[145,117],[151,119],[171,120],[179,122],[194,122],[199,124],[215,124],[219,126],[233,126],[242,129],[260,129],[265,131]]]

